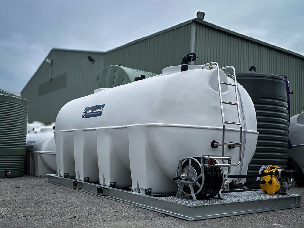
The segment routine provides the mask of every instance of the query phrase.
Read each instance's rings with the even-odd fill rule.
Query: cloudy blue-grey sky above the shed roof
[[[195,18],[304,54],[304,1],[0,0],[0,88],[20,92],[53,48],[106,51]]]

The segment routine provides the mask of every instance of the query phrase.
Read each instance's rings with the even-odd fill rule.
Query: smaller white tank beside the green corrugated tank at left
[[[41,133],[30,133],[26,141],[27,174],[46,177],[56,173],[54,130],[46,128]]]

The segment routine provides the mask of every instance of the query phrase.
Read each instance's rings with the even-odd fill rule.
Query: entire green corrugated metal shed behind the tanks
[[[189,52],[199,55],[195,64],[216,61],[237,71],[255,65],[257,72],[285,74],[294,91],[292,115],[304,106],[304,56],[196,18],[107,52],[53,49],[47,58],[53,60],[54,79],[49,80],[49,64],[44,61],[22,90],[29,101],[29,121],[55,121],[66,102],[91,93],[94,78],[106,66],[122,63],[160,74],[164,67],[179,65]]]

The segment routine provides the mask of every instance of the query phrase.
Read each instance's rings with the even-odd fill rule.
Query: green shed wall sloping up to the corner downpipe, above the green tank
[[[124,67],[160,74],[168,66],[181,64],[190,50],[190,26],[167,30],[145,40],[110,51],[105,66],[122,64]]]

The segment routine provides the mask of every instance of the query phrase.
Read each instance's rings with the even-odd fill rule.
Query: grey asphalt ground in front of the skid
[[[46,181],[30,175],[0,179],[0,227],[304,227],[302,207],[186,221]],[[304,188],[290,193],[304,195]]]

